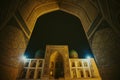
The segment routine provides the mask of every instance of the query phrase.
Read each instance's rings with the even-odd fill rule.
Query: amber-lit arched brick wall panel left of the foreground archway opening
[[[15,26],[6,26],[0,32],[0,80],[16,80],[19,57],[26,48],[24,38]]]

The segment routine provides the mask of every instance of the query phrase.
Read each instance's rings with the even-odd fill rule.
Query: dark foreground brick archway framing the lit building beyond
[[[120,0],[0,1],[0,80],[16,80],[37,19],[56,10],[81,20],[102,79],[119,80]]]

